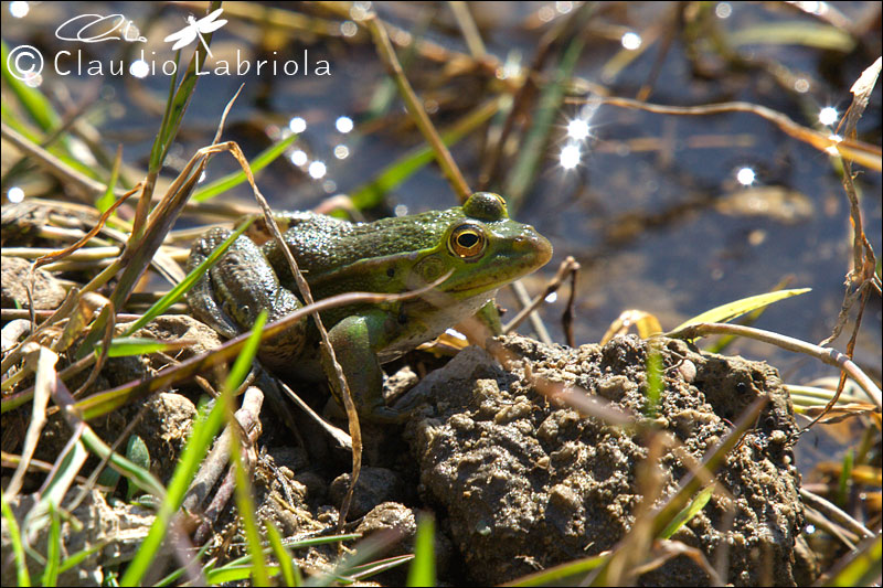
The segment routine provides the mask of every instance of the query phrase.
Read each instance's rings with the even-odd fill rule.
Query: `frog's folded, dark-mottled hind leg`
[[[225,228],[209,231],[190,254],[192,270],[230,236]],[[281,319],[302,307],[300,300],[279,284],[276,271],[260,248],[248,237],[238,237],[209,272],[188,292],[193,313],[214,330],[233,338],[254,325],[264,309],[267,322]],[[260,359],[269,367],[290,367],[305,343],[307,321],[290,325],[283,333],[265,341]]]

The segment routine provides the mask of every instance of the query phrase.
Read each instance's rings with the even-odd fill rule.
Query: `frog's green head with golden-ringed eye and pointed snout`
[[[477,192],[437,222],[438,239],[415,256],[411,287],[450,272],[438,288],[457,300],[497,290],[539,269],[552,257],[552,245],[531,225],[512,221],[497,194]]]

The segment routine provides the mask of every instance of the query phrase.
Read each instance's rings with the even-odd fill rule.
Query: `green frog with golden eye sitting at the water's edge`
[[[401,293],[449,274],[421,296],[374,304],[352,304],[321,313],[360,416],[397,421],[403,415],[383,403],[381,364],[476,314],[497,289],[552,257],[552,246],[530,225],[509,217],[497,194],[478,192],[447,211],[351,223],[311,212],[283,213],[284,240],[316,300],[342,292]],[[231,232],[216,227],[194,245],[188,271]],[[258,247],[241,236],[188,292],[193,314],[226,338],[247,331],[266,309],[268,321],[301,308],[294,277],[275,239]],[[262,343],[269,370],[321,378],[340,403],[333,370],[319,353],[315,322],[305,318]],[[340,403],[342,404],[342,403]]]

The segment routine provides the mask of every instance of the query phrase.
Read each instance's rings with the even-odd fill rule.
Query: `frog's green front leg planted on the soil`
[[[381,311],[353,314],[328,331],[328,339],[347,376],[359,415],[379,423],[398,423],[406,415],[383,404],[383,371],[376,353],[384,345],[387,320],[389,316]],[[325,353],[322,367],[336,399],[343,406],[340,382]]]

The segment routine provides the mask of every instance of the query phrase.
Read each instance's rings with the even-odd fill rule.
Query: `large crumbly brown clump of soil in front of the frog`
[[[648,456],[636,428],[581,416],[535,389],[544,381],[578,386],[640,416],[648,406],[647,343],[616,339],[567,349],[510,336],[497,345],[517,357],[503,371],[471,348],[412,392],[428,399],[406,429],[419,462],[419,490],[465,558],[472,581],[497,584],[616,546],[635,523],[642,495],[636,470]],[[717,480],[728,491],[672,538],[699,548],[723,580],[737,586],[795,585],[804,525],[799,474],[788,442],[796,432],[776,371],[741,357],[696,353],[664,341],[664,391],[656,423],[696,461],[759,396],[769,403],[725,460]],[[659,460],[662,496],[689,469],[667,451]],[[726,525],[732,517],[732,526]],[[800,539],[802,541],[802,539]],[[651,585],[708,585],[713,579],[680,556],[639,578]]]

